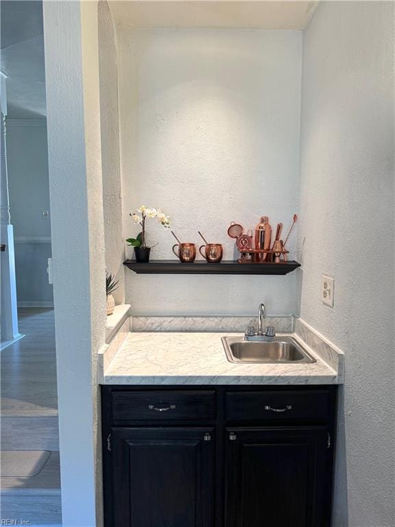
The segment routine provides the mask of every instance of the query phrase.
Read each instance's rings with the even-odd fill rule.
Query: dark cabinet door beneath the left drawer
[[[117,527],[213,526],[213,428],[112,428]]]

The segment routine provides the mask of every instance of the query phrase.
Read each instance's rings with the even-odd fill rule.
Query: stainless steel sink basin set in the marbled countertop
[[[229,362],[304,364],[317,362],[292,337],[276,337],[271,342],[243,340],[243,337],[222,337]]]

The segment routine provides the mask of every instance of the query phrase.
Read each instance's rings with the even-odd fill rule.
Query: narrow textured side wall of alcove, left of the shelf
[[[115,302],[121,304],[125,298],[125,242],[119,159],[118,67],[112,16],[106,1],[99,2],[99,73],[106,269],[119,281],[113,295]]]

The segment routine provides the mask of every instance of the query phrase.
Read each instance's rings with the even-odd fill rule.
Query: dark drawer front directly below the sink
[[[282,419],[329,419],[328,390],[228,392],[228,421],[278,421]]]

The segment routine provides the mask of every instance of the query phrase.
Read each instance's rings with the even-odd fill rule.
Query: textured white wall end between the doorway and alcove
[[[100,527],[97,352],[106,292],[97,2],[44,2],[43,12],[62,525]]]

